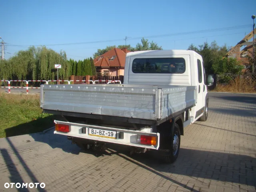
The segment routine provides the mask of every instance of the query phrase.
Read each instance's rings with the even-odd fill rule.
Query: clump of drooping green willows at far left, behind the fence
[[[57,53],[45,46],[21,50],[12,58],[1,61],[1,63],[3,63],[0,65],[1,79],[56,79],[57,72],[52,73],[51,71],[54,64],[61,64],[59,78],[67,79],[71,70],[65,52]]]

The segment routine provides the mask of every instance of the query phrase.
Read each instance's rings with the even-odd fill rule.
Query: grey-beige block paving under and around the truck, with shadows
[[[173,164],[113,149],[98,157],[50,130],[0,139],[0,191],[17,191],[6,182],[46,185],[20,191],[256,191],[256,95],[209,95],[207,122],[185,129]]]

